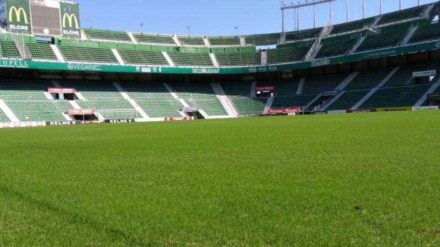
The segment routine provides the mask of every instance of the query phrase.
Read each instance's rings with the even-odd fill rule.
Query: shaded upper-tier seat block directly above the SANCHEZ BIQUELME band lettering
[[[395,26],[391,26],[391,28],[386,30],[383,29],[381,33],[370,33],[357,48],[356,52],[398,46],[408,34],[410,27],[394,28]]]

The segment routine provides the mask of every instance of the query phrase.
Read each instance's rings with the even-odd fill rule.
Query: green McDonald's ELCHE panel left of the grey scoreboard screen
[[[11,32],[31,33],[29,0],[6,0],[7,25]]]

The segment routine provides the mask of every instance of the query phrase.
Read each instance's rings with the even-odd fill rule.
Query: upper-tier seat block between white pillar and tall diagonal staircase
[[[310,50],[311,44],[302,47],[282,46],[276,49],[267,50],[267,64],[279,64],[288,62],[302,61],[304,56]]]

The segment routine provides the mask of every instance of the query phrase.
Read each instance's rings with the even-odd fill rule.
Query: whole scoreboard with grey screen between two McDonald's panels
[[[58,0],[0,0],[0,20],[10,32],[81,38],[79,4]]]

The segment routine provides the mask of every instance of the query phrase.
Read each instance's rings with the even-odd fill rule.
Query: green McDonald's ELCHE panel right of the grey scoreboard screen
[[[62,36],[66,38],[81,38],[81,23],[79,20],[79,5],[77,3],[60,2]]]

